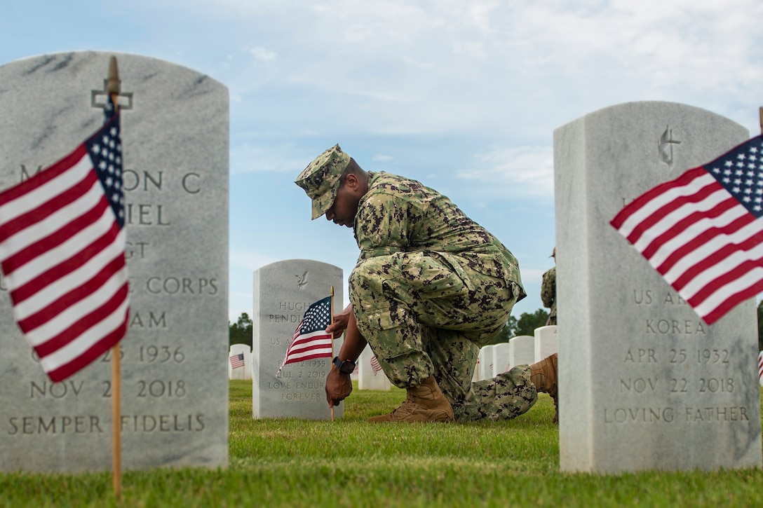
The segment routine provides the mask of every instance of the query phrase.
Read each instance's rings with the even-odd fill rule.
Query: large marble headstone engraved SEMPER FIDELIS
[[[0,188],[103,123],[121,77],[130,319],[121,342],[122,466],[228,461],[228,92],[192,69],[125,53],[0,66]],[[0,284],[0,471],[111,468],[111,354],[53,384]]]

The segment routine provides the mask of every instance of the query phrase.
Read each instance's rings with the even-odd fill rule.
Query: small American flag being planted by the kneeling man
[[[302,320],[297,325],[291,344],[286,349],[286,356],[278,375],[284,365],[296,362],[304,362],[314,358],[331,358],[333,337],[326,332],[326,327],[331,323],[331,300],[325,297],[307,307]]]

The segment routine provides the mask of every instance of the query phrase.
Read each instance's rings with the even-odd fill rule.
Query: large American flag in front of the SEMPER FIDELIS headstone
[[[0,193],[0,264],[16,323],[54,382],[127,331],[119,114],[60,161]]]

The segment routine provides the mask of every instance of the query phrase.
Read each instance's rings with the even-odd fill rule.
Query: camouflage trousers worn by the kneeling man
[[[513,418],[537,400],[526,366],[472,383],[481,346],[503,329],[520,292],[436,252],[364,259],[349,276],[358,329],[385,375],[401,388],[434,376],[457,421]]]

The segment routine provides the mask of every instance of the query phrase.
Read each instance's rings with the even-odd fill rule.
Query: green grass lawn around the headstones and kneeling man
[[[507,422],[376,424],[404,391],[353,391],[334,422],[253,420],[230,381],[230,467],[0,474],[0,506],[763,506],[763,471],[559,472],[553,404]]]

